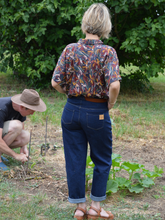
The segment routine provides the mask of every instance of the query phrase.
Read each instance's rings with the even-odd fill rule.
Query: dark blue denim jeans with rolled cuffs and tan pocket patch
[[[62,118],[64,153],[69,190],[68,201],[82,203],[85,198],[85,170],[88,143],[95,164],[90,198],[106,198],[106,185],[112,160],[112,131],[107,102],[67,99]]]

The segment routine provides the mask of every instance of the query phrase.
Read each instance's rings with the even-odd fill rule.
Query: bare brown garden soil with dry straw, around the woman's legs
[[[59,202],[61,207],[73,206],[67,202],[68,190],[65,172],[62,132],[60,128],[45,125],[32,125],[29,120],[26,129],[32,129],[31,160],[24,165],[11,168],[9,180],[28,196],[46,195],[46,204]],[[46,155],[41,155],[41,146],[49,143]],[[153,171],[154,165],[165,171],[165,139],[152,137],[146,139],[116,139],[113,141],[113,153],[120,154],[122,161],[138,162]],[[107,197],[104,208],[116,206],[117,213],[141,213],[158,215],[165,219],[165,173],[155,181],[150,189],[140,194],[117,192]],[[90,185],[87,190],[90,194]],[[89,196],[87,196],[89,204]],[[73,206],[74,211],[75,206]]]

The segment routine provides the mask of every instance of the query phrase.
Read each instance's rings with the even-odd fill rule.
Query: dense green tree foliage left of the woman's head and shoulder
[[[0,1],[0,71],[9,65],[28,84],[47,87],[62,49],[74,41],[70,0]]]

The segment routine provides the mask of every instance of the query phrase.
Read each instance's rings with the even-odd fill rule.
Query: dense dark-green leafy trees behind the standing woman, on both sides
[[[9,65],[35,87],[50,84],[63,48],[83,37],[81,19],[94,2],[105,3],[112,16],[111,37],[104,43],[117,50],[120,65],[139,67],[123,75],[123,82],[163,72],[165,0],[0,0],[0,70]]]

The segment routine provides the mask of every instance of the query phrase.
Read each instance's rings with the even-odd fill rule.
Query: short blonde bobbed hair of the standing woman
[[[109,38],[112,23],[108,8],[102,3],[92,4],[84,13],[81,29],[84,34],[89,33]]]

